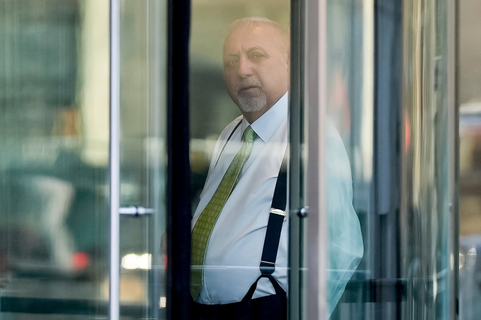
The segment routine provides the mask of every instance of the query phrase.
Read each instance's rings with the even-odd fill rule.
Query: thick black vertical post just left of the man
[[[168,0],[167,319],[190,319],[190,0]],[[160,235],[159,235],[160,236]]]

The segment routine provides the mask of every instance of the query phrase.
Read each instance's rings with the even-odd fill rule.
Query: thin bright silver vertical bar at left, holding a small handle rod
[[[109,319],[120,316],[120,0],[110,0],[110,294]]]

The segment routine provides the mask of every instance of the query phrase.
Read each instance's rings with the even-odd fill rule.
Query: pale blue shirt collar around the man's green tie
[[[242,118],[241,132],[244,132],[248,125],[265,143],[274,135],[279,125],[287,119],[287,110],[289,104],[289,92],[286,92],[274,105],[261,115],[253,123],[249,123]]]

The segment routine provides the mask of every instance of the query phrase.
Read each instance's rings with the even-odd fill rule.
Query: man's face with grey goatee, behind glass
[[[267,111],[288,90],[288,45],[271,25],[231,32],[223,60],[228,94],[242,112]]]

